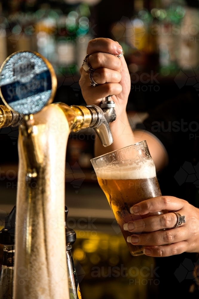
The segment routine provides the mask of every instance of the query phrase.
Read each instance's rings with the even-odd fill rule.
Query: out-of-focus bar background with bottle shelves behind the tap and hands
[[[199,90],[198,5],[198,0],[2,0],[0,64],[13,52],[38,51],[57,74],[54,101],[86,105],[78,81],[87,44],[96,37],[114,39],[131,76],[130,125],[144,129],[150,109],[193,86]],[[18,128],[0,130],[1,225],[16,202],[17,137]],[[92,129],[70,134],[65,172],[82,298],[159,298],[153,258],[129,254],[98,186],[90,163],[94,140]]]

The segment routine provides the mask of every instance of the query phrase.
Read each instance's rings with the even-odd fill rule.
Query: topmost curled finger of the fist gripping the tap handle
[[[122,52],[122,47],[118,43],[109,38],[91,39],[88,43],[87,54],[96,52],[110,53],[119,55]]]

